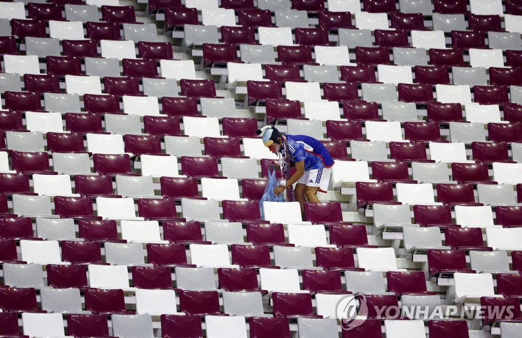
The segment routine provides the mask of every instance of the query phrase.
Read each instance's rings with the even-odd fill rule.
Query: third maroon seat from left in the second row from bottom
[[[198,316],[220,314],[217,291],[182,290],[179,296],[181,312]]]

